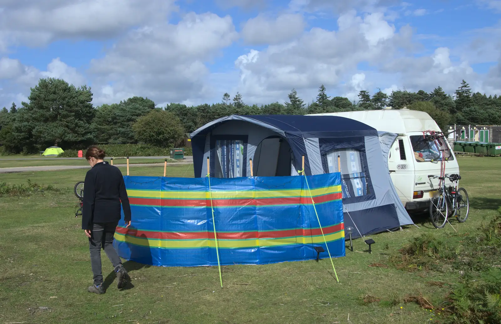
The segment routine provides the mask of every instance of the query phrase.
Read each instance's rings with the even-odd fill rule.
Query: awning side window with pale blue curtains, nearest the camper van
[[[341,172],[343,198],[363,196],[368,193],[369,177],[366,175],[361,152],[352,148],[329,151],[326,154],[329,172]]]

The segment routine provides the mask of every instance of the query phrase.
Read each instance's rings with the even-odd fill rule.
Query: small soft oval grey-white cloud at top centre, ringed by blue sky
[[[277,44],[297,37],[305,26],[302,14],[284,13],[276,19],[260,14],[245,22],[241,34],[248,44]]]

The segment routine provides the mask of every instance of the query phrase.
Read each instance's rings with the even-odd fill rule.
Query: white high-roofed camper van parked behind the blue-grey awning
[[[440,175],[441,161],[439,149],[447,158],[445,173],[459,174],[459,166],[453,151],[445,138],[440,138],[441,147],[431,139],[424,140],[423,131],[440,131],[437,123],[426,112],[409,109],[381,109],[366,111],[347,111],[320,113],[316,115],[335,115],[361,121],[376,128],[398,134],[391,146],[388,168],[400,200],[408,211],[429,208],[429,191],[438,187],[438,179],[428,175]],[[445,184],[451,185],[449,179]]]

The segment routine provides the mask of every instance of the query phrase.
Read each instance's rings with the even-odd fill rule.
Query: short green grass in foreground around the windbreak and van
[[[465,223],[435,229],[427,218],[403,231],[373,235],[373,253],[354,240],[354,251],[330,262],[285,262],[217,267],[155,267],[124,262],[133,278],[119,291],[104,253],[106,294],[86,291],[92,284],[88,240],[73,216],[77,202],[70,187],[86,170],[0,174],[0,182],[27,179],[54,184],[61,192],[0,197],[0,323],[429,323],[440,318],[406,295],[440,305],[448,292],[436,282],[453,283],[455,269],[405,271],[389,264],[406,242],[421,233],[458,239],[474,231],[501,205],[501,158],[460,157],[461,185],[470,196]],[[163,167],[135,167],[132,175],[161,175]],[[122,172],[125,172],[122,170]],[[170,166],[170,176],[193,176],[190,165]],[[349,243],[347,243],[349,246]],[[369,300],[369,299],[373,300]],[[365,299],[365,301],[364,301]],[[370,302],[378,300],[375,302]],[[48,308],[40,308],[48,307]],[[434,316],[432,316],[432,314]]]

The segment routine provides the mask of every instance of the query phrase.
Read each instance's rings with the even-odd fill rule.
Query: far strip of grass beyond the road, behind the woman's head
[[[105,158],[106,161],[110,161],[109,158]],[[177,162],[179,160],[168,160],[168,162]],[[114,164],[127,164],[127,159],[117,158],[113,160]],[[130,164],[139,163],[163,163],[161,158],[129,158]],[[89,162],[85,158],[81,159],[62,159],[58,157],[46,157],[44,159],[12,159],[9,157],[0,158],[0,167],[17,167],[17,166],[47,166],[47,165],[89,165]]]

